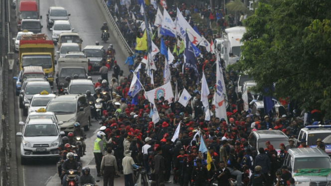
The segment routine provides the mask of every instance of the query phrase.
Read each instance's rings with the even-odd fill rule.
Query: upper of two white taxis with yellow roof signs
[[[34,94],[30,101],[28,114],[37,111],[40,108],[45,109],[48,102],[55,96],[55,94],[48,93],[47,91],[42,91],[40,94]]]

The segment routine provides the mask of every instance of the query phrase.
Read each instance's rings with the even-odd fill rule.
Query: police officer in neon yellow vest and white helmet
[[[103,142],[103,138],[106,136],[104,132],[97,132],[97,139],[94,141],[94,158],[96,160],[96,167],[97,167],[97,176],[101,177],[100,168],[101,168],[101,161],[103,156],[105,155],[105,147],[106,144]]]

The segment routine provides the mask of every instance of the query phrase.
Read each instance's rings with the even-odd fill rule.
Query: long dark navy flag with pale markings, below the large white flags
[[[189,35],[185,34],[185,42],[186,42],[186,48],[185,48],[185,57],[186,57],[186,61],[185,61],[185,67],[187,67],[188,69],[192,69],[194,71],[194,73],[192,73],[192,75],[198,77],[197,83],[199,83],[199,71],[198,71],[198,67],[197,67],[197,63],[196,63],[196,55],[193,49],[193,44],[189,39]],[[162,54],[162,53],[161,53]],[[185,58],[184,58],[185,59]]]

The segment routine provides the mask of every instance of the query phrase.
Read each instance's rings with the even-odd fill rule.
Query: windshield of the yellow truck
[[[50,55],[23,55],[22,68],[28,66],[41,66],[45,69],[52,67]]]

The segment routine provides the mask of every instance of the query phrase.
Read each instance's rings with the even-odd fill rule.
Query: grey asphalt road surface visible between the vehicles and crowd
[[[75,32],[78,32],[83,39],[82,49],[87,45],[95,45],[96,41],[101,41],[101,31],[100,28],[105,21],[104,15],[101,13],[98,4],[94,0],[40,0],[40,15],[43,16],[41,19],[43,29],[42,33],[46,33],[49,38],[51,38],[51,31],[47,29],[46,26],[46,12],[50,6],[62,6],[67,9],[70,16],[70,23]],[[18,7],[17,7],[18,8]],[[11,34],[13,37],[16,36],[17,28],[16,23],[14,22],[14,10],[11,11]],[[110,33],[110,41],[107,43],[100,42],[101,45],[104,45],[107,49],[108,45],[113,44],[114,49],[116,49],[117,55],[116,60],[117,64],[120,66],[121,70],[124,71],[124,75],[128,75],[128,67],[124,67],[124,62],[126,56],[122,55],[122,52],[119,49],[119,43],[114,41],[114,35]],[[12,50],[12,49],[11,49]],[[57,48],[55,49],[57,50]],[[15,59],[18,58],[17,53],[15,54]],[[56,67],[57,69],[57,67]],[[19,71],[14,65],[13,76],[18,75]],[[109,71],[109,80],[111,80],[112,71]],[[100,75],[93,76],[93,81],[96,82]],[[9,77],[12,78],[12,77]],[[56,85],[56,84],[54,84]],[[13,86],[15,86],[15,81],[13,81]],[[12,89],[14,90],[14,88]],[[54,91],[57,91],[54,87]],[[20,127],[18,126],[19,121],[25,121],[26,117],[22,115],[22,109],[18,107],[18,96],[15,96],[15,129],[16,132],[20,132]],[[81,159],[83,167],[88,166],[91,168],[91,174],[95,177],[96,180],[101,180],[98,185],[103,185],[102,177],[97,177],[95,160],[93,155],[93,145],[96,138],[96,132],[99,130],[100,125],[96,120],[92,120],[92,126],[90,131],[87,133],[87,152],[86,156]],[[31,161],[28,165],[20,165],[20,139],[16,139],[16,153],[17,153],[17,164],[18,164],[18,177],[19,177],[19,186],[60,186],[60,179],[57,175],[56,163],[45,161],[45,160],[36,160]],[[115,179],[116,186],[124,186],[123,175],[120,178]]]

